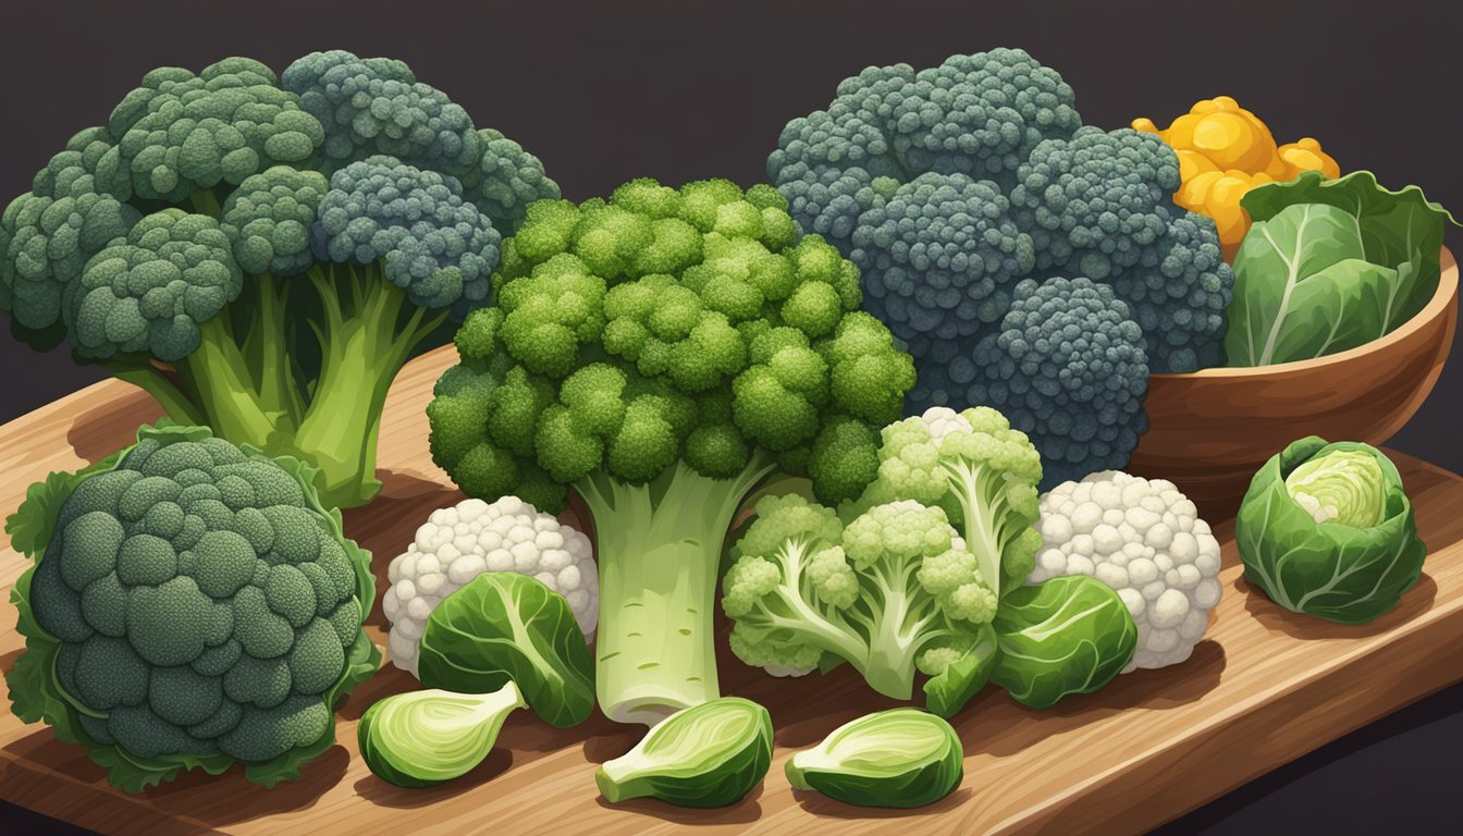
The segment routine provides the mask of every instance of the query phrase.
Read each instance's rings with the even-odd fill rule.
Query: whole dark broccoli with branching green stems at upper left
[[[487,303],[502,237],[557,196],[401,61],[315,53],[284,86],[252,59],[159,67],[0,215],[0,310],[360,505],[396,372]]]

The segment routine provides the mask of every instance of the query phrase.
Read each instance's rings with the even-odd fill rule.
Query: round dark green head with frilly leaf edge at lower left
[[[269,785],[297,777],[334,741],[335,700],[379,660],[360,630],[369,556],[312,473],[206,429],[143,428],[32,489],[7,526],[37,561],[18,584],[16,713],[133,792],[233,761]]]

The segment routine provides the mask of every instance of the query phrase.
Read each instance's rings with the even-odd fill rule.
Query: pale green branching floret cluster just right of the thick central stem
[[[732,652],[774,675],[849,663],[907,700],[916,666],[942,675],[995,618],[995,593],[945,512],[913,499],[843,526],[800,496],[768,496],[732,556]]]

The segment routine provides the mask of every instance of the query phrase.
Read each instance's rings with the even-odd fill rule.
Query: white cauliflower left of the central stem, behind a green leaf
[[[386,572],[391,589],[382,609],[391,621],[391,660],[413,676],[427,616],[483,572],[538,578],[569,602],[585,640],[594,641],[600,575],[590,539],[516,496],[464,499],[433,511]]]

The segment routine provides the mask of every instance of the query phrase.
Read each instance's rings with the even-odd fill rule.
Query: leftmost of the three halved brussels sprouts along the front
[[[379,700],[361,714],[361,758],[396,786],[432,786],[467,775],[497,742],[508,714],[524,707],[508,682],[492,694],[426,690]]]

